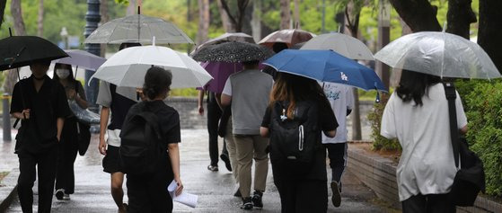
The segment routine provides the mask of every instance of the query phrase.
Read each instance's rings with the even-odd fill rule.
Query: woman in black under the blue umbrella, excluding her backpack
[[[273,119],[271,114],[276,102],[289,102],[287,118],[295,117],[295,103],[315,102],[318,107],[318,148],[315,151],[313,165],[309,171],[301,175],[291,173],[285,164],[286,157],[270,151],[270,162],[274,183],[279,191],[281,211],[287,212],[326,212],[328,208],[328,190],[326,178],[326,151],[321,145],[321,131],[327,137],[333,138],[339,126],[330,103],[324,95],[321,86],[314,80],[299,75],[277,73],[277,81],[270,93],[270,104],[260,128],[262,137],[269,137],[269,127]],[[272,149],[277,141],[270,139]]]

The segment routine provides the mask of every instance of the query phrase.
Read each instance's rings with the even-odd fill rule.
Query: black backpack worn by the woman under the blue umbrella
[[[270,160],[289,172],[309,173],[320,145],[316,102],[296,102],[294,119],[286,117],[288,102],[275,102],[270,120]]]

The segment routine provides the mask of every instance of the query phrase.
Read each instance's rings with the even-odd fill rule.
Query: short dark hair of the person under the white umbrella
[[[146,71],[143,93],[150,100],[154,100],[162,93],[168,93],[172,82],[171,71],[162,67],[150,67]]]

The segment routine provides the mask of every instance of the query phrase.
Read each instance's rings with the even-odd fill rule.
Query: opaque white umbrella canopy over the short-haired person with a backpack
[[[122,49],[109,58],[92,78],[128,87],[143,87],[146,70],[158,66],[172,72],[171,88],[204,86],[211,75],[187,55],[166,47],[142,46]]]

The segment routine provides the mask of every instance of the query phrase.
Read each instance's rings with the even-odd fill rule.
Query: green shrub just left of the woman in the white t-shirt
[[[397,139],[387,139],[380,135],[380,126],[382,123],[383,110],[388,101],[388,95],[382,95],[380,102],[375,102],[373,111],[368,113],[368,120],[371,123],[371,138],[373,138],[374,150],[398,150],[401,145]]]

